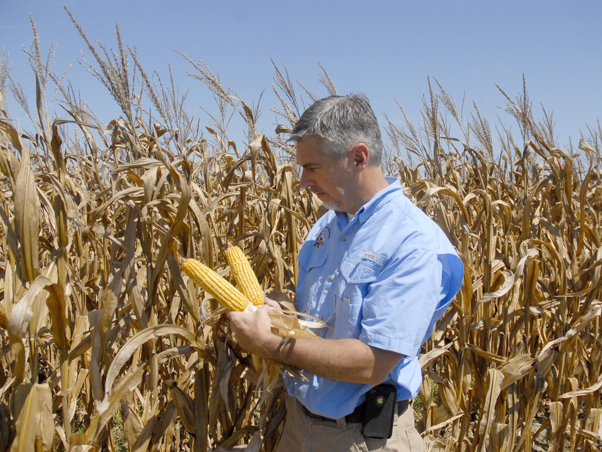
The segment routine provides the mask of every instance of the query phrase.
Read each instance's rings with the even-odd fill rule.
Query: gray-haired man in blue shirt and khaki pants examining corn
[[[410,403],[422,382],[418,353],[461,286],[462,262],[399,180],[383,175],[380,128],[364,95],[315,102],[291,140],[301,187],[330,209],[299,251],[295,303],[329,328],[318,330],[321,339],[293,338],[280,350],[271,307],[228,314],[244,348],[302,369],[307,379],[285,376],[278,452],[421,451]],[[391,438],[362,434],[372,419],[367,397],[392,407]]]

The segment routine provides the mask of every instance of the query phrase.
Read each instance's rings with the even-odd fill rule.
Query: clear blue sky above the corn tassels
[[[58,42],[54,71],[67,78],[103,122],[120,116],[104,87],[76,62],[85,43],[63,10],[67,5],[88,38],[116,48],[115,22],[123,42],[137,48],[147,72],[167,80],[172,66],[181,90],[190,89],[187,108],[216,113],[208,89],[186,77],[187,61],[202,59],[245,101],[261,101],[260,127],[273,132],[277,122],[268,107],[278,105],[270,81],[270,58],[287,66],[299,81],[324,96],[316,81],[323,64],[340,94],[364,92],[384,124],[383,114],[400,123],[396,99],[417,119],[427,76],[436,77],[460,104],[474,100],[492,128],[505,101],[495,84],[513,98],[527,90],[536,117],[539,102],[553,111],[561,146],[575,141],[586,122],[595,125],[602,105],[600,1],[28,1],[4,2],[0,42],[13,60],[11,76],[35,98],[34,76],[21,49],[31,45],[28,13],[33,14],[43,49]],[[300,90],[300,89],[299,89]],[[20,113],[9,98],[9,110]],[[471,111],[471,110],[469,110]],[[237,126],[237,124],[235,124]],[[230,130],[239,140],[242,127]]]

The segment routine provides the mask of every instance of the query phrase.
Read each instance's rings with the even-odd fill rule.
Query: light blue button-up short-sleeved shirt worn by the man
[[[319,316],[327,339],[355,338],[403,354],[385,383],[397,400],[413,398],[422,383],[420,347],[462,284],[464,267],[441,228],[403,193],[399,180],[347,219],[330,210],[299,251],[296,308]],[[341,418],[364,401],[371,386],[285,375],[288,393],[311,412]]]

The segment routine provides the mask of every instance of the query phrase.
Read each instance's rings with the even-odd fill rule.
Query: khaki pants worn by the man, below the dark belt
[[[423,452],[424,442],[414,425],[412,406],[393,424],[389,439],[365,439],[361,424],[319,421],[303,412],[299,402],[287,395],[287,420],[276,452]]]

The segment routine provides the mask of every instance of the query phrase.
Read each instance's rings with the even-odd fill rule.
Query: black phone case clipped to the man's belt
[[[397,389],[393,385],[374,386],[366,393],[362,422],[364,438],[391,438],[396,405]]]

